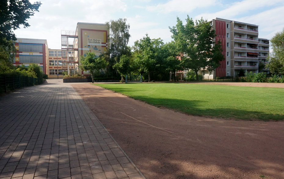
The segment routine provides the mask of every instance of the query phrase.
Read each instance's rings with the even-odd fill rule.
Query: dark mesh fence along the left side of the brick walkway
[[[25,86],[42,84],[42,79],[25,76],[0,77],[0,94]]]

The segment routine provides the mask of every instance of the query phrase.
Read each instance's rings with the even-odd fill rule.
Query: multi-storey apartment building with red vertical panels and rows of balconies
[[[211,74],[202,71],[206,78],[236,76],[240,69],[258,73],[259,62],[267,63],[269,40],[258,37],[257,25],[220,18],[208,22],[216,30],[215,41],[221,41],[225,60]]]

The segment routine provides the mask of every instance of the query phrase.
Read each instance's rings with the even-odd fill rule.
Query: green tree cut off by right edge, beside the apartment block
[[[266,58],[269,62],[267,67],[270,73],[284,75],[284,28],[271,38],[270,44],[273,52]]]

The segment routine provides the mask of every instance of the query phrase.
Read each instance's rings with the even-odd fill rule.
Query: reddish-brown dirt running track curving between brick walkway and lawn
[[[147,179],[284,179],[284,122],[185,115],[72,86]]]

